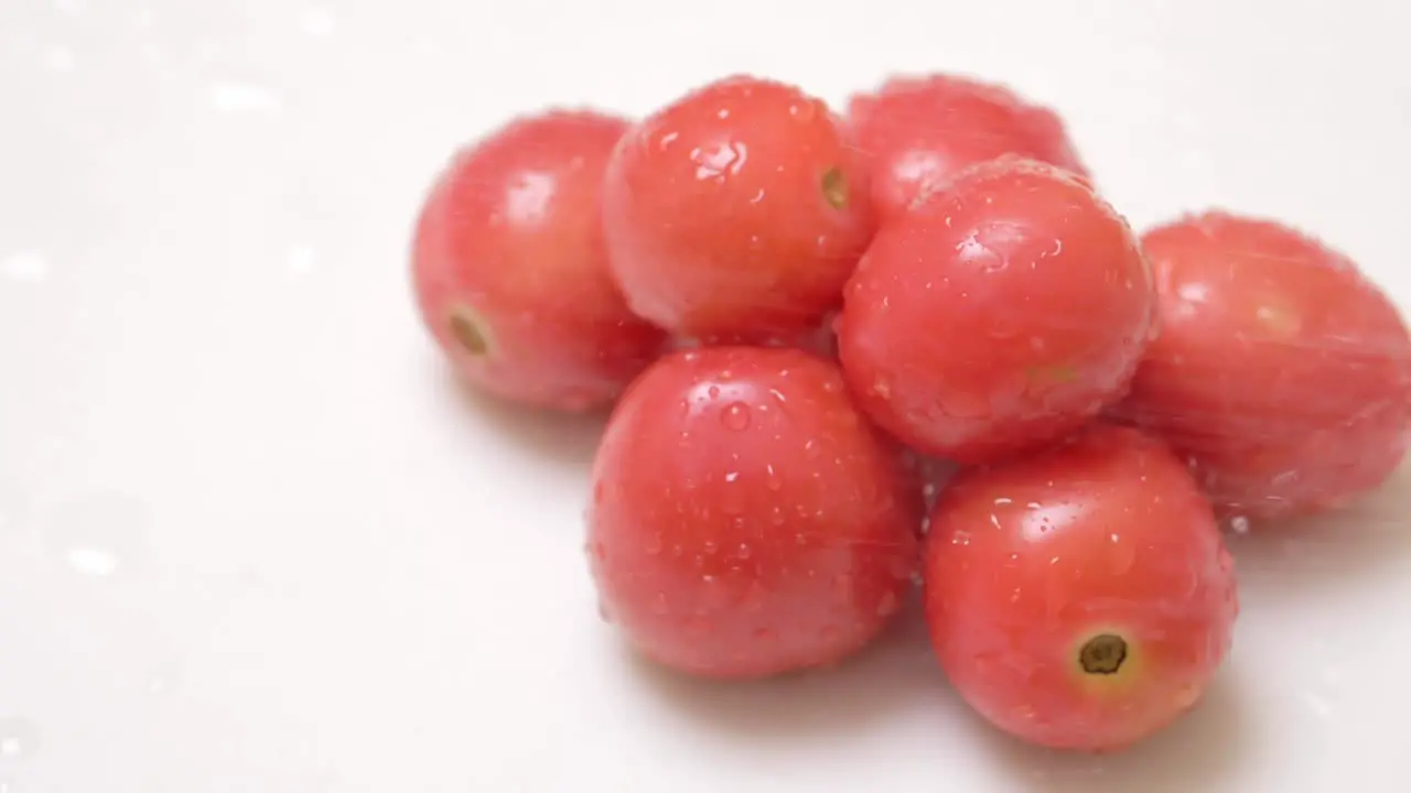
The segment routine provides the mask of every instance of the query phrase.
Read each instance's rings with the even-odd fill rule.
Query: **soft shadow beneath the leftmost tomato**
[[[443,361],[436,360],[435,364],[435,388],[450,395],[454,402],[450,412],[474,422],[477,433],[501,435],[516,449],[528,449],[555,463],[581,468],[593,463],[607,425],[605,409],[574,415],[516,405],[457,378]]]

